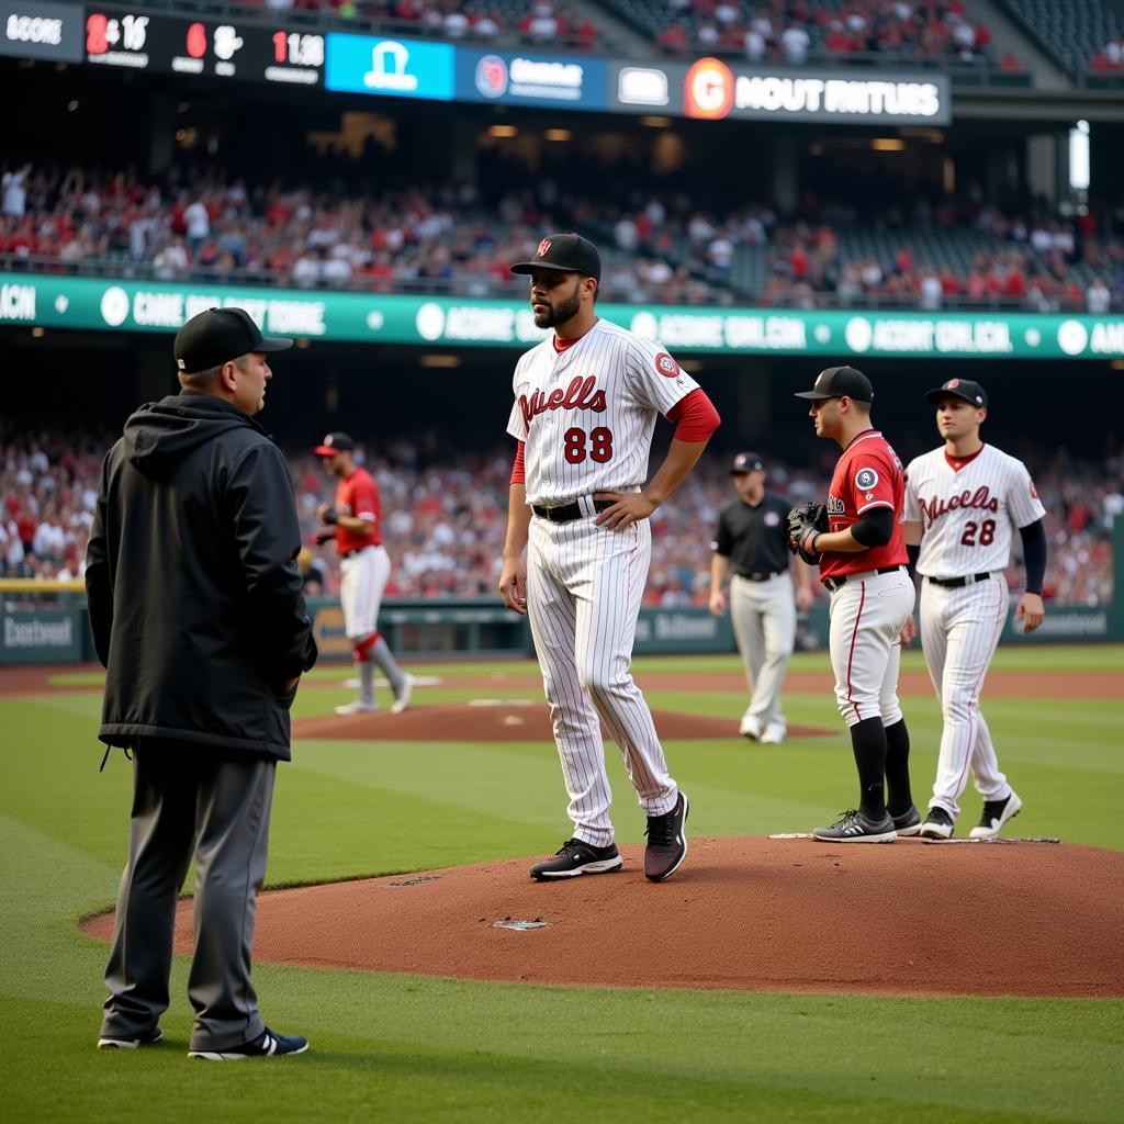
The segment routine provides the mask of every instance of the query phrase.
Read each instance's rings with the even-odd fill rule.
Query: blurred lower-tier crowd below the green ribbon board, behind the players
[[[75,579],[97,500],[108,434],[29,436],[0,442],[0,577]],[[511,451],[443,455],[434,435],[397,438],[365,456],[379,481],[384,543],[393,572],[388,597],[493,597],[507,526]],[[362,455],[362,450],[360,451]],[[310,592],[338,592],[330,546],[311,546],[316,508],[334,481],[307,451],[289,457],[307,549]],[[1111,531],[1124,515],[1124,460],[1103,463],[1055,453],[1031,461],[1050,541],[1044,596],[1064,605],[1106,605],[1113,596]],[[709,543],[733,491],[727,459],[708,454],[652,518],[653,558],[645,604],[705,606]],[[794,504],[823,495],[828,461],[795,468],[770,460],[770,487]],[[1016,550],[1018,542],[1016,538]],[[1016,560],[1017,561],[1017,560]],[[1019,588],[1021,571],[1010,571]]]

